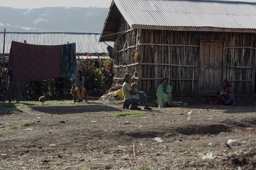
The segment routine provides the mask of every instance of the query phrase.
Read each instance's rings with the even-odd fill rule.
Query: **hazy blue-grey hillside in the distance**
[[[100,32],[108,8],[0,7],[0,32]]]

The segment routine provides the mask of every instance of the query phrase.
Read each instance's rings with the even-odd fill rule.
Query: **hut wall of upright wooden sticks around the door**
[[[123,21],[119,31],[128,29]],[[201,40],[223,42],[222,80],[230,80],[236,95],[254,93],[256,36],[253,33],[135,29],[117,39],[116,78],[130,73],[138,78],[134,81],[140,90],[147,93],[156,93],[161,79],[166,77],[173,94],[198,94]],[[134,61],[136,48],[138,63]]]

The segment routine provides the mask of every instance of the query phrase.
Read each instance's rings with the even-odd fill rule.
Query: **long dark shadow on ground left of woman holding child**
[[[34,111],[39,111],[49,114],[70,114],[70,113],[89,113],[89,112],[113,112],[122,111],[117,108],[105,106],[105,105],[76,105],[76,106],[40,106],[30,107]]]

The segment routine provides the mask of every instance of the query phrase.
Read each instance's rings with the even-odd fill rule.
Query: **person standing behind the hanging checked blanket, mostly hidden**
[[[20,84],[19,82],[12,81],[12,69],[8,68],[7,75],[9,76],[8,88],[6,92],[6,98],[11,103],[12,99],[16,99],[16,102],[19,103],[19,99],[23,99]]]

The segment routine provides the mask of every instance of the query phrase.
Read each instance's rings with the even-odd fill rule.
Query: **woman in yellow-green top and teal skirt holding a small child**
[[[134,110],[140,110],[140,108],[137,107],[138,102],[135,102],[134,98],[132,97],[132,95],[135,94],[139,94],[140,95],[140,102],[144,103],[144,109],[146,110],[151,110],[150,107],[148,107],[147,105],[147,95],[145,94],[144,91],[141,92],[136,92],[133,91],[131,88],[131,75],[130,74],[125,74],[125,82],[122,86],[122,91],[123,91],[123,95],[125,97],[125,103],[128,103],[131,105],[130,109],[134,109]]]

